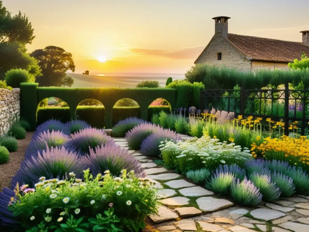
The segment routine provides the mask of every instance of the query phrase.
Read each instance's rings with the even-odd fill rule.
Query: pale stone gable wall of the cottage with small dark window
[[[218,53],[222,54],[221,60],[217,60]],[[251,71],[251,61],[239,52],[221,35],[214,35],[208,47],[197,59],[196,64],[209,64],[214,66],[226,66],[240,71]]]

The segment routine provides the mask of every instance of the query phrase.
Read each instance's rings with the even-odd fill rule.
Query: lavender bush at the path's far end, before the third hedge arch
[[[121,120],[113,127],[113,136],[123,137],[125,136],[125,133],[127,133],[133,127],[145,122],[145,120],[136,117],[130,117]]]

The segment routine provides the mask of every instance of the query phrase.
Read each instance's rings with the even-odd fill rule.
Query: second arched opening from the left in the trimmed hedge
[[[91,127],[105,127],[105,108],[99,100],[88,98],[79,102],[75,114],[76,119],[86,121]]]

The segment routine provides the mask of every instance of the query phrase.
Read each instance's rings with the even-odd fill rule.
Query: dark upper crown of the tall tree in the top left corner
[[[20,11],[17,15],[12,16],[0,0],[0,43],[19,42],[27,44],[31,43],[34,37],[28,17],[22,15]]]

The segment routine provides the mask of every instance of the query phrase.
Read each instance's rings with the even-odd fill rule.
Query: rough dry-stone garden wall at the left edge
[[[19,88],[15,88],[13,91],[0,88],[0,135],[4,135],[11,124],[19,119],[19,96]]]

